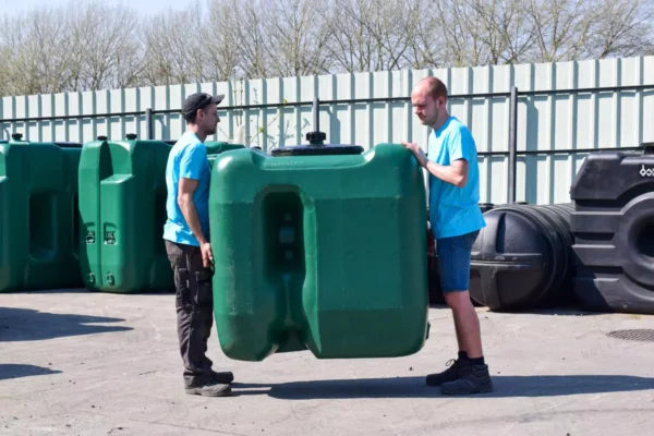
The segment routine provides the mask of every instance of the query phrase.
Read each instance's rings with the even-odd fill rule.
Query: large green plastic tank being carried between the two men
[[[364,153],[323,136],[216,158],[214,311],[230,359],[402,356],[427,338],[421,168],[398,144]]]

